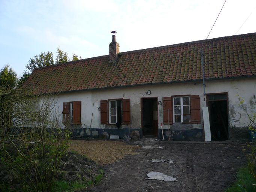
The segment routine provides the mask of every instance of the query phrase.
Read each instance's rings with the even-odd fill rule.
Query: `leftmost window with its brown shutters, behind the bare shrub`
[[[81,124],[81,101],[63,103],[63,123]]]

